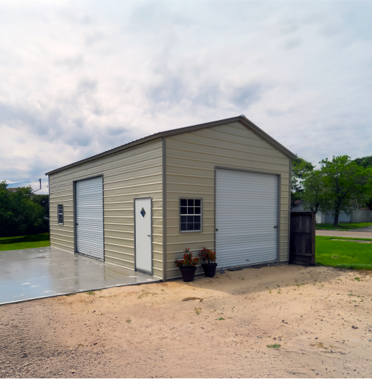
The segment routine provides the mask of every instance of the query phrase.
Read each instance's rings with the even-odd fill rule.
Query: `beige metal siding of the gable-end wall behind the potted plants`
[[[288,260],[289,159],[240,123],[174,135],[166,142],[167,279],[179,277],[174,259],[184,248],[214,248],[216,166],[281,175],[280,260]],[[202,232],[179,232],[179,198],[203,199]],[[200,272],[201,268],[198,268]]]

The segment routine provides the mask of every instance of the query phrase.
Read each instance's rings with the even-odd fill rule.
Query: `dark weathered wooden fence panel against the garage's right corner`
[[[315,265],[315,212],[291,212],[289,263]]]

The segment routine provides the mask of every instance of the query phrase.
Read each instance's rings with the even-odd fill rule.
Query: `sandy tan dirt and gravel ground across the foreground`
[[[282,265],[4,305],[0,376],[370,378],[371,304],[372,272]]]

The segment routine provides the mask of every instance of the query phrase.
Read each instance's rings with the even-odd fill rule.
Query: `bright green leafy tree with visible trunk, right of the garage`
[[[372,168],[358,166],[347,155],[319,163],[318,173],[305,179],[305,208],[331,211],[333,225],[338,226],[340,212],[350,213],[352,201],[372,197]]]

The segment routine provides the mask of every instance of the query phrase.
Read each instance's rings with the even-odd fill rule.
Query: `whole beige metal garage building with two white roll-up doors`
[[[294,158],[240,116],[57,168],[50,246],[163,280],[179,277],[186,247],[215,248],[219,267],[287,262]]]

